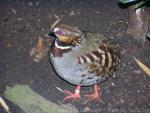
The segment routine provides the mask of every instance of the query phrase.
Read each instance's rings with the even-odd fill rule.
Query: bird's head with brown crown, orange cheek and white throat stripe
[[[83,41],[83,33],[68,25],[60,25],[54,28],[53,32],[56,36],[55,46],[59,49],[71,49]]]

